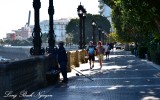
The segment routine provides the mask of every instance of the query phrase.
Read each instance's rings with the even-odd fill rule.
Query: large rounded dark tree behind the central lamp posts
[[[106,33],[110,33],[110,22],[106,17],[100,16],[100,15],[86,15],[85,20],[85,38],[86,43],[92,40],[92,20],[96,21],[97,27],[96,27],[96,39],[98,40],[98,26],[105,31]],[[70,33],[73,37],[73,43],[78,44],[79,43],[79,19],[71,19],[71,21],[66,26],[66,32]]]

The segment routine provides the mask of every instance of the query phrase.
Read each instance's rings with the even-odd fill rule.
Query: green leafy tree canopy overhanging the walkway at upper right
[[[115,32],[121,41],[142,43],[148,36],[160,36],[159,0],[107,0],[105,3],[112,8]]]

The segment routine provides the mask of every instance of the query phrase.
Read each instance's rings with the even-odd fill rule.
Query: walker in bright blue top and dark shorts
[[[87,54],[88,54],[90,69],[92,69],[94,67],[95,52],[96,52],[96,47],[93,45],[93,42],[90,41],[89,42],[89,47],[87,48]]]

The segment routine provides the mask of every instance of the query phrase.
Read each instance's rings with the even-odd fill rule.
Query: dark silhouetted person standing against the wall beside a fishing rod
[[[64,43],[63,42],[59,42],[58,43],[58,63],[60,65],[60,71],[62,73],[63,76],[63,83],[68,83],[68,78],[67,78],[67,53],[66,50],[64,48]]]

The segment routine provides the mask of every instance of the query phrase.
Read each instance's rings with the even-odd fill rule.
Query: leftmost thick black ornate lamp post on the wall
[[[44,55],[45,50],[41,47],[42,44],[42,32],[39,25],[39,9],[41,7],[40,0],[33,0],[34,8],[34,29],[32,33],[33,47],[30,49],[31,55]]]

